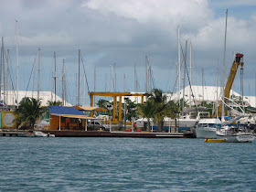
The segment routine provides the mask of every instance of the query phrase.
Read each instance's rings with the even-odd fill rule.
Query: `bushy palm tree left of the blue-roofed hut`
[[[34,98],[23,98],[16,108],[17,119],[20,122],[18,129],[29,124],[29,128],[33,129],[37,118],[44,111],[41,107],[41,101]]]

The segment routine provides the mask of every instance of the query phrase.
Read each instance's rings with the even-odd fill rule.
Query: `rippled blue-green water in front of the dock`
[[[0,191],[256,191],[256,142],[0,137]]]

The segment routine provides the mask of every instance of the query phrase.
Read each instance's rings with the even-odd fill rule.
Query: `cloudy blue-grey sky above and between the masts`
[[[4,37],[5,52],[10,50],[12,79],[9,81],[13,85],[9,87],[14,89],[17,44],[18,87],[22,91],[37,91],[38,48],[40,91],[53,90],[55,51],[57,94],[61,96],[64,59],[67,100],[72,104],[77,102],[79,49],[80,101],[83,105],[90,104],[88,91],[145,91],[145,57],[152,69],[153,87],[176,91],[177,27],[180,28],[183,53],[181,75],[187,41],[187,65],[190,63],[191,44],[191,83],[202,85],[203,81],[204,85],[216,86],[217,73],[219,71],[220,80],[224,66],[228,9],[226,79],[234,53],[244,54],[244,94],[255,95],[254,0],[0,1],[0,36]],[[113,66],[116,84],[111,80],[115,77]],[[233,89],[240,92],[240,70]]]

